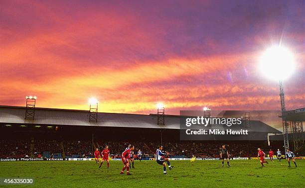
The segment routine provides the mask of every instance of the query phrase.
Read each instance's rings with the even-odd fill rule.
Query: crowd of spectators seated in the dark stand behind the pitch
[[[102,151],[106,145],[109,146],[110,156],[113,158],[121,158],[122,152],[129,144],[135,145],[134,154],[137,155],[139,149],[144,156],[154,157],[154,153],[158,148],[158,144],[152,142],[115,142],[115,141],[98,141],[94,145],[92,140],[34,140],[32,141],[32,154],[34,157],[50,157],[53,154],[61,154],[65,152],[66,157],[72,158],[90,158],[94,157],[95,147],[99,147]],[[1,156],[30,156],[29,140],[0,140],[0,157]],[[219,157],[222,145],[225,144],[231,157],[256,157],[257,148],[262,147],[262,143],[257,142],[166,142],[163,143],[163,150],[169,152],[171,157]],[[62,147],[63,146],[63,147]],[[95,147],[94,147],[95,146]],[[262,148],[268,155],[269,147],[265,145]],[[277,147],[272,148],[276,152]],[[44,156],[44,152],[48,152],[50,156]],[[284,153],[284,151],[282,151]],[[301,153],[302,154],[302,153]],[[297,154],[298,155],[298,154]]]

